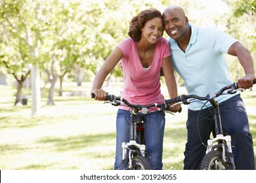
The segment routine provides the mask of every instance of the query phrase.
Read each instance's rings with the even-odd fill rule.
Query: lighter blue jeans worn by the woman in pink
[[[122,150],[121,143],[129,142],[129,122],[131,112],[119,109],[116,120],[116,161],[114,169],[121,169]],[[146,141],[146,153],[152,169],[162,169],[163,131],[165,128],[165,113],[150,112],[139,113],[144,121],[144,133]]]

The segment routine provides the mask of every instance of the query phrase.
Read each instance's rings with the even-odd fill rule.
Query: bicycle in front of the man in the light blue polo
[[[256,79],[253,81],[253,84],[255,83]],[[224,93],[226,90],[228,91]],[[207,152],[202,160],[201,170],[236,169],[234,156],[232,154],[231,137],[230,135],[223,134],[219,103],[215,99],[220,95],[236,93],[238,90],[244,89],[238,88],[238,83],[234,82],[230,86],[223,87],[219,92],[210,93],[205,97],[200,97],[198,95],[181,95],[173,99],[165,100],[165,103],[175,103],[174,105],[188,105],[192,102],[191,100],[189,101],[189,99],[198,99],[200,101],[207,101],[213,106],[213,116],[215,119],[215,131],[213,131],[214,139],[209,139],[207,141]]]

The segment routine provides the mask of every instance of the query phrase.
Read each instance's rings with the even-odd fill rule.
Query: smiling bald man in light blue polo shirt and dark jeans
[[[213,27],[190,24],[184,10],[177,6],[164,10],[163,24],[170,37],[173,67],[184,80],[188,94],[205,96],[232,84],[224,54],[236,56],[244,67],[245,76],[238,79],[238,86],[244,89],[253,86],[253,59],[247,48],[236,39]],[[220,103],[223,128],[231,135],[236,169],[255,169],[253,141],[240,93],[222,95],[217,101]],[[205,156],[206,147],[202,142],[207,144],[213,120],[206,107],[200,112],[202,105],[195,102],[188,106],[184,169],[200,169]],[[199,112],[204,117],[198,122]]]

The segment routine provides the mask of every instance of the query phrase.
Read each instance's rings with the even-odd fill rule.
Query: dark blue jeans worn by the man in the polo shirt
[[[213,112],[212,107],[210,110]],[[235,95],[220,103],[220,111],[223,131],[231,136],[236,169],[255,169],[253,139],[251,133],[249,133],[248,118],[240,95]],[[202,110],[198,122],[199,110],[188,110],[188,120],[186,122],[188,134],[184,152],[184,169],[200,169],[206,150],[203,144],[207,144],[207,139],[209,139],[211,130],[214,127],[211,112],[209,112],[209,109]],[[198,135],[198,126],[203,144]]]

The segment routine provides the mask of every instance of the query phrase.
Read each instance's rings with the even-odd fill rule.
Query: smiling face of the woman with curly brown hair
[[[141,31],[141,39],[145,39],[150,44],[155,44],[163,36],[163,20],[157,17],[152,18],[146,22]]]

